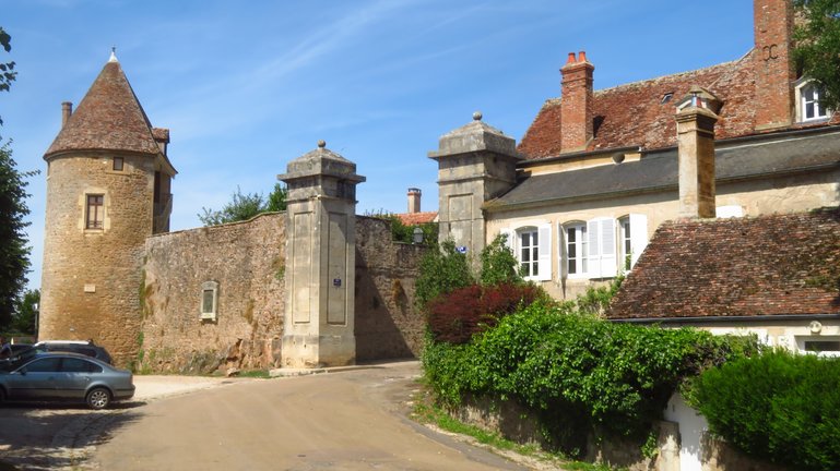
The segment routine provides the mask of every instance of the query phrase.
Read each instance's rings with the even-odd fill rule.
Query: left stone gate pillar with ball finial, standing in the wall
[[[355,363],[356,165],[318,148],[288,164],[284,367]]]

